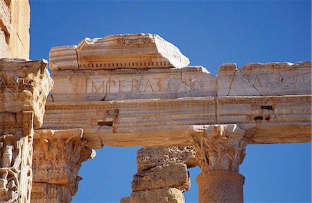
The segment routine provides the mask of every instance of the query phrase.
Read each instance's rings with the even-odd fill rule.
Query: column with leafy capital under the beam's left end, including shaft
[[[82,137],[83,129],[35,131],[32,203],[71,202],[81,163],[95,156]]]

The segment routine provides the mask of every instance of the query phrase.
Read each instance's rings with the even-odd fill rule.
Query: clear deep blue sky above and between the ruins
[[[31,59],[53,46],[118,33],[157,33],[216,74],[222,63],[311,60],[311,1],[31,1]],[[103,147],[83,163],[73,202],[131,193],[135,148]],[[311,202],[311,143],[248,145],[245,202]],[[196,176],[186,202],[197,202]]]

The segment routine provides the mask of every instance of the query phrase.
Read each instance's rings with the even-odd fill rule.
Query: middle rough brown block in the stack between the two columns
[[[157,165],[150,170],[139,171],[132,181],[132,191],[177,188],[184,192],[189,187],[187,165],[183,163]]]

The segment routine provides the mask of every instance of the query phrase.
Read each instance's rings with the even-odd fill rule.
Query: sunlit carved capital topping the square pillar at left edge
[[[40,127],[52,86],[45,60],[0,59],[0,112],[34,111]]]

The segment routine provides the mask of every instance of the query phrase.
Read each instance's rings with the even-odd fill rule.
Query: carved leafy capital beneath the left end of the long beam
[[[74,195],[81,163],[95,156],[82,136],[83,129],[35,131],[33,182],[67,186]]]

